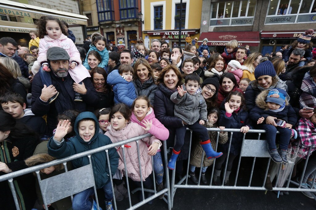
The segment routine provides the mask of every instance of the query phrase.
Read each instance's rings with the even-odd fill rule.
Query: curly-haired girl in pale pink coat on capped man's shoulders
[[[69,60],[69,73],[71,78],[78,84],[82,84],[82,80],[90,77],[88,70],[82,65],[80,59],[80,53],[77,50],[74,42],[66,36],[67,32],[64,29],[64,24],[55,17],[52,16],[42,16],[40,20],[36,22],[38,35],[40,38],[39,46],[39,56],[37,62],[42,66],[39,70],[41,80],[43,85],[47,87],[52,85],[51,77],[49,73],[50,63],[47,61],[46,53],[51,47],[61,47],[70,56]],[[64,58],[66,59],[66,58]],[[63,60],[63,59],[59,59]],[[63,77],[63,75],[57,75],[58,77]],[[66,75],[64,75],[66,76]],[[49,102],[53,102],[59,93],[52,97]],[[82,97],[79,93],[76,93],[74,101],[82,102]]]

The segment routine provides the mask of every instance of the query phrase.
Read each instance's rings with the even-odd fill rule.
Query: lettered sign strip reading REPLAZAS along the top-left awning
[[[17,8],[18,9],[18,8]],[[21,10],[17,10],[17,9],[7,9],[2,7],[2,5],[0,5],[0,14],[4,14],[4,15],[14,15],[14,16],[20,16],[20,17],[26,17],[26,18],[34,18],[34,19],[40,19],[41,16],[45,16],[45,15],[49,15],[49,14],[43,14],[43,13],[37,13],[35,11],[21,11]],[[82,20],[78,20],[78,19],[72,19],[72,18],[68,18],[66,16],[62,16],[62,17],[56,17],[59,20],[64,20],[66,23],[68,24],[79,24],[79,25],[86,25],[86,21]]]

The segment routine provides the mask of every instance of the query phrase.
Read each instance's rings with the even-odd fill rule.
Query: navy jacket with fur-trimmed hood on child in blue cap
[[[291,124],[293,127],[295,126],[297,122],[297,116],[296,112],[292,108],[292,106],[289,104],[289,96],[285,99],[285,107],[280,112],[272,112],[269,110],[267,103],[265,102],[267,96],[268,96],[269,90],[262,91],[256,98],[256,106],[252,108],[249,117],[252,120],[252,123],[254,125],[257,124],[257,121],[259,118],[264,117],[265,119],[268,116],[276,117],[277,119],[284,120],[286,123]]]

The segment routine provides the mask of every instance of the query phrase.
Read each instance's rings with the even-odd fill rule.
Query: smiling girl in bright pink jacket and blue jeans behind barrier
[[[143,127],[146,126],[147,123],[152,123],[151,128],[154,136],[150,138],[158,138],[162,141],[165,141],[169,137],[168,129],[159,122],[155,118],[154,109],[149,106],[150,100],[147,96],[138,96],[133,104],[132,104],[132,116],[131,121],[141,125]],[[147,145],[148,147],[158,146],[157,144],[154,145]],[[163,189],[163,164],[161,159],[160,149],[157,150],[156,155],[153,156],[154,160],[154,171],[155,171],[155,178],[158,185],[158,191]],[[159,196],[160,199],[163,198],[163,194]]]

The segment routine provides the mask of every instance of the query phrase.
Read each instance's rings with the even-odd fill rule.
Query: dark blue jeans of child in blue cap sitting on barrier
[[[276,131],[280,132],[279,149],[288,149],[290,136],[292,134],[291,129],[275,127],[268,124],[259,124],[257,125],[257,128],[265,130],[265,136],[268,141],[269,149],[276,149]]]

